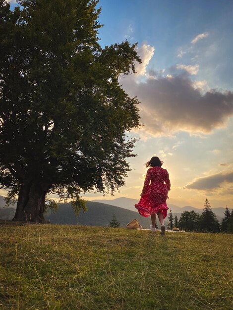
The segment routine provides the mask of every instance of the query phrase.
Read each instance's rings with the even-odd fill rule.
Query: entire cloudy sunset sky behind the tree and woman
[[[12,7],[14,1],[11,2]],[[139,199],[152,156],[170,174],[168,203],[233,208],[233,1],[100,0],[100,44],[138,43],[120,83],[140,102],[135,158],[114,197]]]

